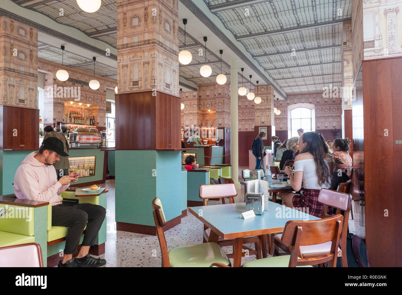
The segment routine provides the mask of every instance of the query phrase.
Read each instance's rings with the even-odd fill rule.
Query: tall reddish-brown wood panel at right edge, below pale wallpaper
[[[366,244],[373,267],[400,267],[402,57],[363,62]],[[353,111],[355,102],[353,102]],[[355,113],[353,113],[355,116]],[[355,130],[355,122],[353,122]],[[388,130],[388,136],[384,134]],[[353,137],[356,138],[355,132]],[[356,157],[356,144],[354,146]],[[386,163],[387,171],[376,169]],[[388,211],[388,216],[385,215]]]

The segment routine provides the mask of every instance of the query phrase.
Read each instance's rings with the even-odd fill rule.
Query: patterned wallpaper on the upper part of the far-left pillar
[[[38,30],[0,17],[0,105],[38,108]]]

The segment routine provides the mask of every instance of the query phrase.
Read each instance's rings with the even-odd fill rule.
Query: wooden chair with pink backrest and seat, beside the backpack
[[[340,233],[341,242],[339,243],[338,256],[342,257],[342,266],[347,267],[346,236],[352,197],[349,193],[341,193],[338,191],[332,191],[330,189],[321,189],[320,194],[318,195],[318,201],[324,205],[322,208],[321,218],[327,218],[331,216],[330,214],[326,214],[328,206],[336,208],[335,214],[341,214],[341,212],[343,212],[344,223]],[[289,249],[285,246],[281,237],[282,234],[276,234],[274,236],[275,246],[278,246],[285,252],[289,252]],[[317,254],[328,253],[330,252],[330,249],[330,243],[314,244],[313,246],[301,246],[300,254],[302,257],[308,257]]]

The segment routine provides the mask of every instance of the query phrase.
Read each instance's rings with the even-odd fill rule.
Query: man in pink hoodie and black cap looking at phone
[[[105,220],[106,210],[102,206],[82,203],[63,204],[59,196],[70,182],[76,182],[77,173],[64,175],[57,181],[56,170],[52,166],[60,156],[68,157],[63,142],[55,137],[43,140],[38,152],[30,153],[14,177],[14,193],[19,199],[46,201],[52,205],[52,226],[68,227],[63,260],[58,267],[99,267],[106,264],[105,259],[94,258],[88,254]],[[82,231],[85,230],[80,252],[77,252]]]

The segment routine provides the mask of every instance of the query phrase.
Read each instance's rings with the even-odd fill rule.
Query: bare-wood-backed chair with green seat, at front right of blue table
[[[342,228],[343,216],[337,214],[324,219],[286,222],[281,241],[290,250],[290,255],[273,256],[249,261],[242,267],[308,267],[328,262],[328,267],[336,267],[337,248]],[[301,247],[330,243],[330,251],[305,257]],[[300,259],[299,259],[300,256]],[[213,263],[210,267],[227,267]]]

